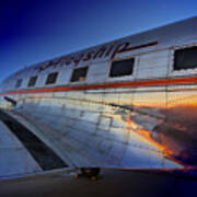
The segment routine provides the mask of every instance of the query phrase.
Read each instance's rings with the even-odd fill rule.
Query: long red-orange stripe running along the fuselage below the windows
[[[55,88],[7,91],[7,92],[1,92],[0,95],[19,94],[19,93],[59,92],[59,91],[72,91],[72,90],[127,88],[127,86],[152,86],[152,85],[184,84],[184,83],[197,83],[197,77],[183,77],[183,78],[174,78],[174,79],[155,79],[155,80],[114,82],[114,83],[72,85],[72,86],[63,85],[63,86],[55,86]]]

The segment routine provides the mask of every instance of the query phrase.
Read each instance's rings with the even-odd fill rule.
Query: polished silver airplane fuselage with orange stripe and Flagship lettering
[[[197,16],[26,67],[0,106],[68,166],[197,166]],[[48,139],[48,140],[47,140]]]

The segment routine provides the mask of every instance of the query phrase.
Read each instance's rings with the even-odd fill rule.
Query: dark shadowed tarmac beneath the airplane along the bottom
[[[101,177],[76,178],[58,171],[0,181],[1,197],[196,197],[197,178],[173,173],[134,170],[102,170]]]

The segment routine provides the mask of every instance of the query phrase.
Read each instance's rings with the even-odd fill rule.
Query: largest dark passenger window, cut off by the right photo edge
[[[197,46],[174,53],[174,70],[197,68]]]

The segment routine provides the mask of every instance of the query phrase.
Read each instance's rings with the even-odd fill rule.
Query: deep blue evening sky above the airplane
[[[0,81],[26,66],[195,15],[196,0],[1,0]]]

